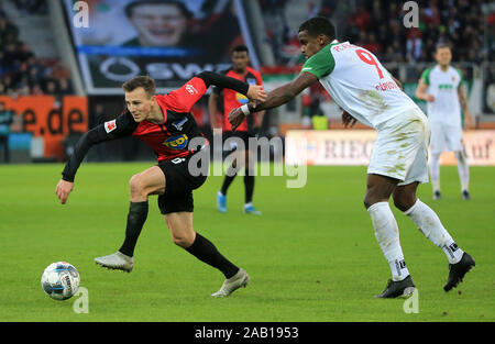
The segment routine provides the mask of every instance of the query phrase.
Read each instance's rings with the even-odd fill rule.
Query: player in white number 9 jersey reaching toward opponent
[[[367,169],[364,206],[392,270],[392,279],[377,297],[407,296],[415,289],[400,247],[397,222],[388,206],[391,196],[395,207],[446,253],[450,271],[443,289],[449,291],[475,263],[455,244],[435,211],[416,197],[418,185],[428,181],[428,119],[372,53],[337,41],[334,32],[324,18],[302,23],[299,42],[307,60],[299,76],[270,92],[266,101],[233,109],[229,121],[235,129],[246,114],[286,103],[320,81],[344,109],[345,125],[359,120],[377,131]]]

